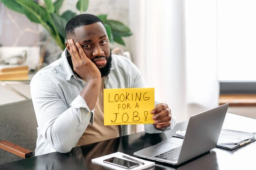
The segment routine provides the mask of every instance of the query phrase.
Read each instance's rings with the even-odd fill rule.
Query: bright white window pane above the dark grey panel
[[[217,1],[218,80],[256,81],[256,0]],[[254,84],[256,89],[256,84]]]

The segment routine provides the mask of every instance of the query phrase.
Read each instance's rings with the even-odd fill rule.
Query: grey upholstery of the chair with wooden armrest
[[[10,141],[35,154],[37,127],[32,100],[0,105],[0,141]],[[20,159],[0,149],[0,164]]]

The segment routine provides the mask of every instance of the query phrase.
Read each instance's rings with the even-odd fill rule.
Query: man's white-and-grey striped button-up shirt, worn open
[[[112,55],[111,72],[104,78],[107,89],[146,87],[139,69],[125,57]],[[61,58],[44,67],[32,78],[31,96],[38,122],[35,156],[58,151],[68,153],[76,147],[89,123],[90,111],[80,93],[86,82],[78,78],[67,61],[67,49]],[[158,104],[155,101],[155,105]],[[172,115],[171,130],[175,126]],[[144,125],[146,133],[162,133],[153,124]],[[121,135],[128,135],[128,125],[121,125]]]

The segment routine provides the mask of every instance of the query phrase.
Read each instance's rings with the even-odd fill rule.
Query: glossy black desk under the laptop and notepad
[[[95,144],[73,148],[70,153],[49,153],[0,165],[0,170],[105,170],[105,167],[92,164],[91,159],[114,152],[133,156],[137,150],[171,138],[176,130],[186,130],[187,122],[179,123],[175,129],[163,134],[135,133],[132,135],[101,141]],[[227,114],[223,128],[234,130],[256,130],[256,120]],[[219,148],[211,150],[200,158],[174,168],[169,164],[157,163],[156,170],[246,170],[255,167],[256,142],[234,151]]]

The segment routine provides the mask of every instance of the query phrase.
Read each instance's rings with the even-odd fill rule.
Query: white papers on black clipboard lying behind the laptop
[[[186,130],[176,131],[177,137],[184,138]],[[222,129],[220,137],[218,139],[218,146],[233,147],[242,141],[250,140],[255,137],[256,133],[247,133],[237,130],[226,130]]]

